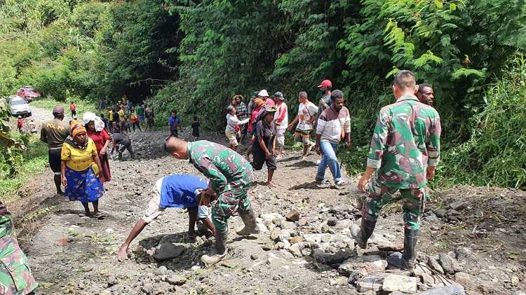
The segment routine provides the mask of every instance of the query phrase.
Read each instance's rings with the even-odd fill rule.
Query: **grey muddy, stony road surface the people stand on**
[[[423,218],[419,263],[425,268],[429,259],[440,261],[445,275],[436,270],[431,270],[431,278],[385,270],[386,256],[403,243],[400,206],[384,208],[370,249],[355,249],[349,228],[360,218],[356,198],[363,196],[356,190],[356,179],[351,178],[344,190],[318,188],[313,184],[314,156],[301,160],[296,151],[288,151],[278,162],[277,188],[250,189],[264,232],[238,237],[234,228],[241,226],[241,219],[230,219],[230,251],[224,263],[201,265],[200,256],[209,251],[212,240],[190,242],[187,214],[177,210],[167,210],[149,224],[130,246],[132,257],[119,262],[116,250],[142,217],[156,179],[169,173],[198,174],[187,161],[166,156],[162,151],[166,136],[166,132],[131,134],[135,160],[125,153],[123,161],[110,161],[112,181],[100,200],[104,219],[79,217],[81,204],[53,195],[48,172],[22,188],[31,193],[13,205],[41,213],[41,218],[27,219],[26,210],[15,212],[19,219],[26,216],[37,224],[30,238],[22,241],[40,283],[36,294],[375,294],[370,290],[381,289],[385,275],[393,273],[416,277],[417,291],[454,280],[466,294],[520,294],[517,291],[526,289],[524,192],[465,186],[433,191]],[[203,139],[227,144],[222,135]],[[264,181],[266,169],[257,175]],[[458,200],[464,202],[455,203]],[[298,221],[283,218],[292,209],[299,212]],[[180,255],[156,261],[151,256],[154,247],[163,245],[173,245],[173,252]],[[356,265],[364,257],[377,259],[382,266],[375,270]],[[445,269],[447,257],[454,260],[454,269]],[[372,275],[379,277],[378,282],[367,289],[365,282]]]

